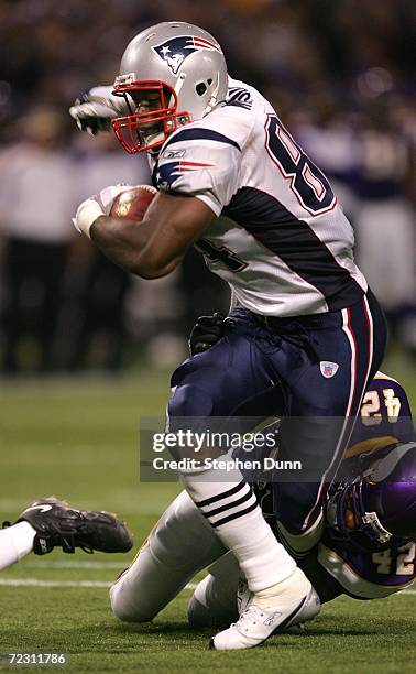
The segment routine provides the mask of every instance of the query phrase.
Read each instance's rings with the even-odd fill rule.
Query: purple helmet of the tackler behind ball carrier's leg
[[[331,490],[327,522],[359,547],[388,547],[416,537],[416,443],[363,455],[360,475]],[[346,521],[351,511],[354,528]]]

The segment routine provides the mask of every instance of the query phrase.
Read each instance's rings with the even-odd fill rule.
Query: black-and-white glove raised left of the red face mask
[[[112,95],[112,87],[99,86],[84,91],[69,108],[78,129],[90,135],[110,131],[111,120],[129,111],[124,98]]]

